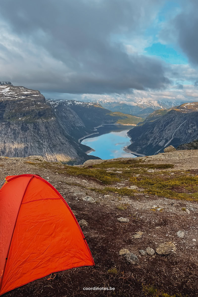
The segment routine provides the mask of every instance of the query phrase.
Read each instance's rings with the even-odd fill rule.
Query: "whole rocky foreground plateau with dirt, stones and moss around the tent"
[[[32,173],[56,187],[77,220],[85,220],[80,225],[96,264],[5,296],[197,296],[198,151],[103,161],[68,166],[38,156],[0,157],[1,181]]]

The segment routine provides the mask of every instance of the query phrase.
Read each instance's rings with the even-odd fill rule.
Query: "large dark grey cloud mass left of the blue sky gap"
[[[1,80],[71,94],[163,89],[170,81],[162,62],[123,44],[142,34],[163,2],[4,1]]]

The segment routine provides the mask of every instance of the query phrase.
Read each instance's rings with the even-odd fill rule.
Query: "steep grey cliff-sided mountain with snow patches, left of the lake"
[[[92,149],[78,139],[101,124],[142,118],[116,115],[96,103],[49,101],[37,90],[0,85],[0,155],[28,157],[41,155],[48,161],[80,164],[99,159],[86,152]]]

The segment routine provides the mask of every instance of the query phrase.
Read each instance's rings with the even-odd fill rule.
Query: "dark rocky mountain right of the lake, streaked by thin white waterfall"
[[[198,138],[198,102],[185,103],[169,110],[156,110],[143,123],[128,132],[127,150],[144,155],[163,152]]]

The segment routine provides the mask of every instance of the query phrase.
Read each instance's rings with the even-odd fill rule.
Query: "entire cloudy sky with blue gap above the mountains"
[[[0,80],[52,99],[198,101],[197,0],[6,0]]]

